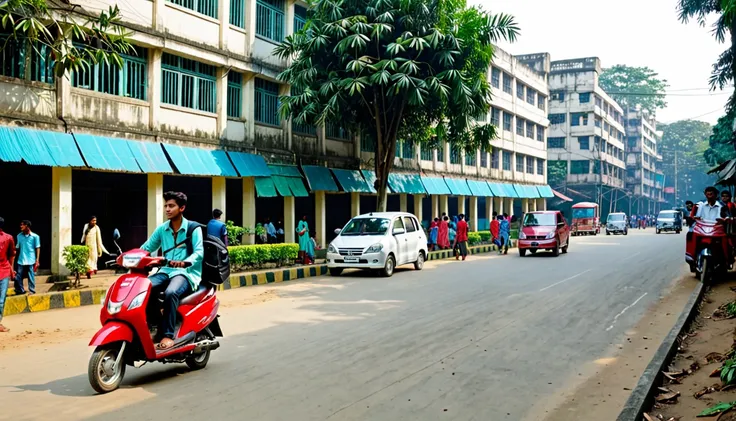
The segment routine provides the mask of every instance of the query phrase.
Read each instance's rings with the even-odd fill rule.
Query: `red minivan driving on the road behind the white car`
[[[524,257],[527,250],[535,254],[537,250],[549,250],[559,256],[560,249],[567,253],[570,246],[570,227],[559,211],[537,211],[524,215],[517,247]]]

